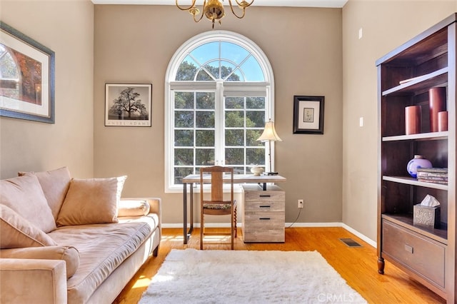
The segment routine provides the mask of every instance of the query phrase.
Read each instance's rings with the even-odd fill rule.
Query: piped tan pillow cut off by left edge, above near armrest
[[[8,206],[0,205],[0,248],[54,246],[57,243]]]

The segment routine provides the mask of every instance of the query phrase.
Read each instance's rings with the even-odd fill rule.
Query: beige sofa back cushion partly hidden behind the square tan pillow
[[[64,203],[66,192],[70,186],[70,171],[67,167],[62,167],[52,171],[43,172],[19,172],[19,176],[35,175],[43,189],[44,196],[51,208],[54,220],[57,220],[60,208]]]

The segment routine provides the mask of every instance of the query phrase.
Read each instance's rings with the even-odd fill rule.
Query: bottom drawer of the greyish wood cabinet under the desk
[[[246,212],[243,223],[245,242],[284,242],[284,212]]]

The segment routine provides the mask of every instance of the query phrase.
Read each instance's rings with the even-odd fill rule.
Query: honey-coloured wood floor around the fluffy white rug
[[[189,243],[184,245],[182,229],[163,229],[159,256],[143,265],[114,303],[138,303],[170,250],[199,249],[199,233],[198,228],[194,229]],[[363,247],[350,248],[339,238],[352,238]],[[230,245],[205,244],[205,249],[229,250]],[[376,249],[343,228],[286,228],[286,243],[276,244],[245,244],[238,229],[235,250],[317,250],[368,303],[446,303],[387,261],[385,274],[379,275]]]

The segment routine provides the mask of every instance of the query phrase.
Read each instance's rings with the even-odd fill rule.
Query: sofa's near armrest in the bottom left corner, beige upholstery
[[[0,258],[0,303],[66,303],[66,299],[63,260]]]

